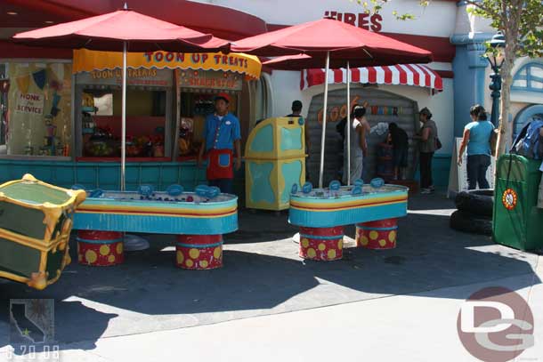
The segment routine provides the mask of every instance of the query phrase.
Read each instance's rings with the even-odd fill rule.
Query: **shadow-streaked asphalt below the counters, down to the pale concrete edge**
[[[443,201],[436,203],[443,209]],[[287,215],[240,215],[239,232],[225,237],[223,269],[174,267],[174,237],[151,236],[149,250],[126,263],[88,268],[73,263],[38,292],[0,284],[4,298],[53,298],[57,339],[93,349],[100,337],[199,326],[292,310],[412,294],[531,274],[535,255],[458,233],[449,216],[410,213],[400,220],[398,246],[388,251],[348,247],[344,260],[302,261]],[[354,229],[346,228],[353,237]],[[282,239],[281,239],[282,237]],[[72,260],[76,245],[72,240]],[[536,283],[539,283],[537,279]],[[524,285],[519,285],[522,288]],[[528,286],[528,285],[526,285]],[[440,297],[439,290],[434,294]],[[444,295],[450,298],[450,291]],[[465,299],[466,295],[454,295]],[[2,302],[0,308],[7,310]],[[4,313],[0,321],[7,322]]]

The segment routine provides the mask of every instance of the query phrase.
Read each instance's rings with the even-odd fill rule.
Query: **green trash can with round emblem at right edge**
[[[543,248],[543,209],[537,207],[541,160],[498,158],[494,193],[494,241],[520,250]]]

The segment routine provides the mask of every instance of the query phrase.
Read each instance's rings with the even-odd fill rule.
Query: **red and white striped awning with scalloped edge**
[[[304,69],[300,89],[324,84],[325,69]],[[351,82],[361,84],[406,84],[430,88],[442,92],[443,80],[433,69],[420,64],[396,64],[383,67],[364,67],[351,69]],[[330,69],[328,84],[346,84],[347,70]]]

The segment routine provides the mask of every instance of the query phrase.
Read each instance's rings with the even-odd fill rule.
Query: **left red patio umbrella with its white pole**
[[[230,43],[223,39],[134,12],[126,4],[117,12],[26,31],[12,39],[34,46],[123,52],[121,190],[126,183],[126,52],[230,50]]]

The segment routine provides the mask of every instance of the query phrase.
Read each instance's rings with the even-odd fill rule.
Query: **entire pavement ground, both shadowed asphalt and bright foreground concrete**
[[[474,358],[458,340],[459,306],[504,286],[531,299],[536,318],[536,345],[520,358],[542,358],[542,257],[450,229],[453,209],[443,194],[410,197],[395,249],[356,248],[348,227],[343,260],[330,262],[297,256],[288,212],[242,210],[239,231],[224,236],[222,269],[177,269],[174,237],[146,236],[150,249],[126,253],[123,265],[72,263],[41,292],[0,282],[0,310],[13,298],[53,299],[65,361],[460,361]],[[77,261],[74,240],[71,250]],[[0,313],[4,353],[8,321]]]

